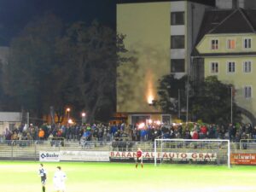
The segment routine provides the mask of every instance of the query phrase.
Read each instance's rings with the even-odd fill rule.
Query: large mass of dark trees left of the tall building
[[[116,67],[129,60],[119,56],[127,51],[124,38],[97,21],[67,26],[51,14],[32,20],[12,39],[2,66],[0,89],[11,98],[4,110],[42,118],[53,106],[61,119],[72,106],[74,116],[85,111],[90,122],[107,120],[115,111]]]

